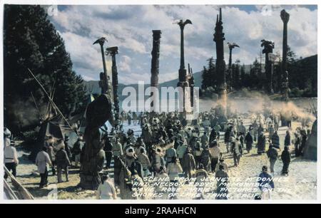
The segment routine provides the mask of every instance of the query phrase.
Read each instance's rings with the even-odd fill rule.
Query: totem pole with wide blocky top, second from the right
[[[269,56],[273,53],[274,42],[267,41],[265,39],[261,40],[261,47],[263,47],[262,53],[265,53],[265,75],[266,75],[266,90],[267,93],[273,93],[272,89],[272,60]]]

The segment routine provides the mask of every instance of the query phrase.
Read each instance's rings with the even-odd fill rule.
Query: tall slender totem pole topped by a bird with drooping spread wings
[[[187,72],[185,69],[184,59],[184,27],[186,24],[192,24],[192,21],[187,19],[186,21],[180,20],[177,23],[180,26],[180,69],[178,70],[178,87],[183,88],[183,116],[185,118],[185,88],[188,87]]]

